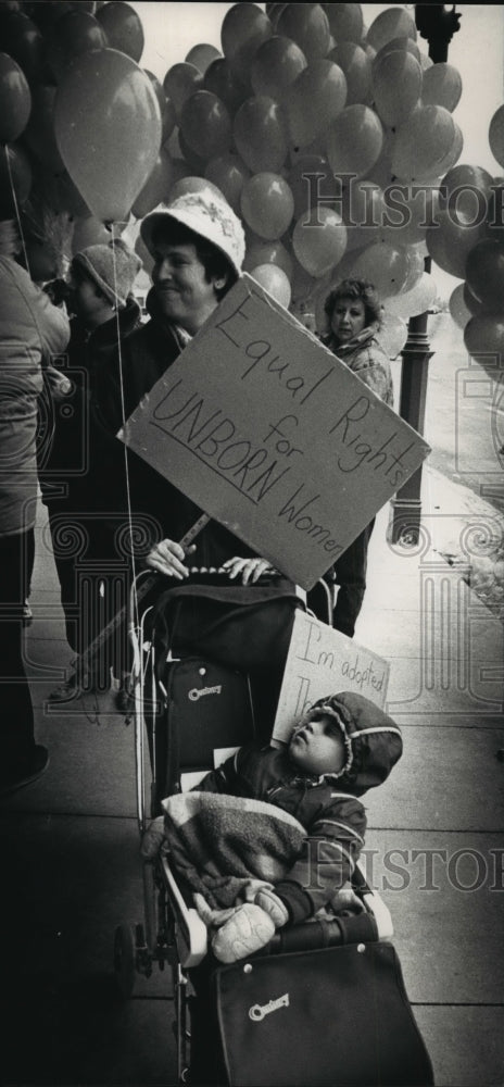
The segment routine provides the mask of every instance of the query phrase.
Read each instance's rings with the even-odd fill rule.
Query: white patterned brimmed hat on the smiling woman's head
[[[182,223],[205,241],[219,249],[239,275],[245,255],[245,236],[243,227],[224,197],[219,198],[212,189],[198,189],[185,192],[165,208],[156,208],[146,215],[140,234],[146,246],[153,255],[152,235],[155,228],[169,220]]]

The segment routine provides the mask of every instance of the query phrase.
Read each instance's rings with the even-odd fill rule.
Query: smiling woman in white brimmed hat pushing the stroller
[[[245,251],[239,218],[210,188],[187,192],[147,215],[140,232],[154,260],[147,299],[150,321],[123,346],[122,383],[116,362],[99,375],[94,395],[96,412],[114,435],[236,283]],[[182,580],[189,569],[177,541],[202,511],[130,450],[126,496],[124,447],[118,441],[115,447],[108,458],[108,465],[112,459],[115,462],[115,508],[119,480],[122,508],[129,505],[134,522],[141,522],[148,565]],[[220,567],[223,563],[229,577],[243,584],[270,569],[228,529],[210,521],[191,547],[191,564]]]

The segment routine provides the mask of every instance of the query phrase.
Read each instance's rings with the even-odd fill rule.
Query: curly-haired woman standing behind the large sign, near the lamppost
[[[374,285],[367,279],[343,279],[328,295],[325,313],[328,333],[322,337],[323,342],[376,396],[393,407],[390,364],[378,339],[381,305]],[[355,633],[366,589],[367,548],[374,524],[375,520],[366,525],[332,567],[339,585],[332,625],[349,638]]]

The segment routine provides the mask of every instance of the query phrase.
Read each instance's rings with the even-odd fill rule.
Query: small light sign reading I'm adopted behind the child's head
[[[352,690],[381,709],[387,698],[390,666],[381,657],[357,645],[305,612],[295,613],[289,654],[278,699],[273,739],[288,742],[292,727],[318,698]]]

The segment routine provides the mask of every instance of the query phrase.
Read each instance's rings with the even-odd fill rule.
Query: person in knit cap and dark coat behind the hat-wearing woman
[[[54,413],[54,434],[39,476],[49,511],[66,638],[77,654],[101,633],[114,582],[121,582],[123,574],[124,560],[121,563],[114,547],[114,493],[110,489],[103,492],[106,448],[103,450],[101,433],[91,425],[89,397],[96,374],[106,368],[117,351],[117,341],[123,343],[140,326],[140,308],[131,293],[140,267],[140,259],[122,239],[87,246],[74,255],[70,285],[65,285],[74,314],[67,348],[72,383],[63,410]],[[75,553],[67,553],[68,533],[83,538],[78,560]],[[94,565],[93,574],[90,563]],[[86,603],[77,615],[79,599]],[[90,689],[108,685],[108,664],[115,664],[117,674],[124,666],[124,661],[113,659],[114,648],[106,646],[105,653],[103,647],[101,654],[89,662],[89,671],[83,670]],[[49,697],[52,702],[62,702],[73,695],[75,676]]]

